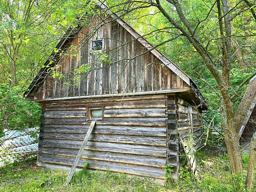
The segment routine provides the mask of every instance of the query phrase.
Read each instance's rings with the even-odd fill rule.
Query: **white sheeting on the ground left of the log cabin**
[[[4,130],[5,136],[0,138],[0,166],[4,161],[13,162],[12,154],[22,154],[26,151],[37,151],[38,142],[36,138],[31,137],[31,132],[36,132],[38,128],[28,128],[24,131]],[[38,137],[38,134],[36,134]],[[6,153],[7,155],[5,155]],[[4,160],[4,161],[3,161]]]

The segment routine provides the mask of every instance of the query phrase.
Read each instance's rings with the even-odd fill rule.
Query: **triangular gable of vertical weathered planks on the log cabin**
[[[100,24],[96,20],[92,27],[84,26],[76,38],[70,39],[71,46],[62,53],[54,70],[63,78],[48,75],[35,100],[189,88],[156,56],[145,52],[147,49],[119,23]],[[103,39],[103,52],[93,53],[92,41],[99,39]],[[74,70],[83,64],[87,65],[87,72],[75,74]]]

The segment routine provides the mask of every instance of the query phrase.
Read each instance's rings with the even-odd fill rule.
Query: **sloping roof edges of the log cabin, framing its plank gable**
[[[105,6],[105,5],[103,5]],[[163,62],[170,70],[172,70],[175,74],[177,74],[178,77],[180,77],[183,81],[185,81],[191,88],[192,91],[195,93],[195,96],[198,98],[199,101],[201,101],[201,104],[204,109],[207,109],[207,102],[204,98],[204,96],[201,94],[200,90],[198,89],[195,82],[192,80],[190,76],[188,76],[183,70],[181,70],[177,65],[175,65],[169,58],[167,58],[162,52],[160,52],[158,49],[156,49],[152,44],[150,44],[144,37],[142,37],[135,29],[133,29],[125,20],[120,18],[114,13],[110,13],[110,17],[115,20],[117,23],[119,23],[120,26],[122,26],[124,29],[126,29],[136,40],[138,40],[146,49],[148,49],[153,55],[155,55],[160,61]],[[81,18],[79,18],[81,19]],[[64,38],[61,39],[61,41],[57,44],[56,49],[61,49],[67,41],[69,41],[71,38],[76,36],[76,34],[79,32],[80,27],[74,28],[74,29],[68,29],[66,32],[66,35],[64,35]],[[50,57],[45,62],[44,66],[48,66],[50,64],[50,61],[52,61],[54,58],[58,58],[58,52],[52,52]],[[24,97],[29,100],[29,96],[34,96],[36,91],[38,90],[39,85],[44,81],[45,76],[49,72],[47,70],[52,67],[43,67],[39,71],[39,73],[36,75],[35,79],[32,81],[32,83],[29,85],[28,90],[24,93]]]

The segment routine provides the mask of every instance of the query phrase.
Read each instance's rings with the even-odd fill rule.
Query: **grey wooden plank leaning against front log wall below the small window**
[[[71,178],[72,178],[72,176],[73,176],[73,174],[75,172],[76,166],[77,166],[77,164],[78,164],[78,162],[80,160],[80,157],[83,154],[83,151],[84,151],[84,148],[85,148],[85,146],[87,144],[87,141],[89,140],[90,134],[93,131],[93,128],[95,127],[95,124],[96,124],[95,121],[91,122],[90,127],[89,127],[89,129],[87,131],[87,134],[84,137],[84,141],[83,141],[83,143],[82,143],[82,145],[81,145],[81,147],[80,147],[80,149],[78,151],[78,154],[76,155],[76,159],[75,159],[75,161],[73,163],[73,166],[71,167],[70,172],[69,172],[69,174],[67,176],[67,179],[66,179],[66,181],[64,183],[64,186],[66,186],[70,182],[70,180],[71,180]]]

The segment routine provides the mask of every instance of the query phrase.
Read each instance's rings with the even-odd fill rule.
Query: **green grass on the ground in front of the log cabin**
[[[73,175],[70,185],[63,186],[67,172],[33,170],[35,157],[21,160],[0,168],[0,191],[4,192],[233,192],[243,191],[244,186],[233,185],[227,154],[216,148],[203,149],[196,153],[202,175],[197,181],[188,171],[180,169],[181,179],[167,186],[160,186],[150,178],[131,177],[112,172],[90,172],[83,169]],[[245,168],[248,156],[243,157]],[[244,177],[236,176],[243,181]],[[256,191],[254,182],[253,191]]]

